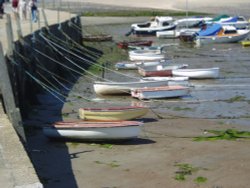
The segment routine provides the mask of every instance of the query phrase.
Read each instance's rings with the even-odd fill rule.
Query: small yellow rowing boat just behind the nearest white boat
[[[142,117],[148,112],[147,107],[112,107],[112,108],[80,108],[79,117],[84,120],[121,121]]]

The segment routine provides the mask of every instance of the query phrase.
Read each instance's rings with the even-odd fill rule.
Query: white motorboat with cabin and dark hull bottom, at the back
[[[150,21],[132,24],[131,32],[139,36],[155,36],[157,31],[173,30],[175,27],[176,25],[172,17],[156,16]]]

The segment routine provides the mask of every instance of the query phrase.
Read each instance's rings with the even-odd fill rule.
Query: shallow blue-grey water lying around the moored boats
[[[91,29],[111,34],[114,41],[129,40],[134,36],[125,37],[130,24],[94,26]],[[114,106],[140,103],[165,115],[205,118],[220,120],[224,123],[249,124],[250,118],[250,48],[240,43],[209,44],[196,47],[179,42],[178,39],[158,39],[144,37],[136,39],[153,40],[153,45],[167,44],[164,48],[166,56],[175,63],[189,64],[189,68],[220,67],[218,79],[191,80],[194,87],[190,95],[182,99],[162,99],[138,101],[130,96],[96,96],[92,83],[81,78],[73,91],[84,92],[88,88],[87,98],[96,99],[91,106]],[[120,71],[130,77],[139,77],[136,71]],[[106,72],[106,78],[114,81],[126,81],[129,78]],[[76,99],[77,100],[77,99]],[[78,101],[78,100],[77,100]],[[78,101],[77,107],[90,104]]]

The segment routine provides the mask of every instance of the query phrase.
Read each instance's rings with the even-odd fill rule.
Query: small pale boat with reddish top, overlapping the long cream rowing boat
[[[131,96],[138,99],[162,99],[182,97],[189,93],[188,87],[162,86],[131,89]]]

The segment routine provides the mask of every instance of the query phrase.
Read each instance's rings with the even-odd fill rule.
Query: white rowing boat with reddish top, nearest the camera
[[[48,138],[85,141],[124,140],[138,137],[143,124],[137,121],[118,122],[56,122],[43,128]]]

